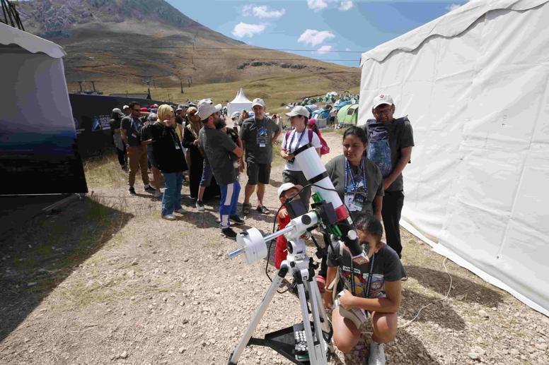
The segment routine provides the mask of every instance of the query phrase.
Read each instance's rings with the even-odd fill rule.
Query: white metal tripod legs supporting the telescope
[[[265,241],[280,236],[284,234],[284,232],[287,232],[287,230],[282,229],[279,232],[271,234],[270,236],[265,237]],[[255,329],[258,327],[261,318],[267,310],[267,306],[269,306],[274,294],[276,294],[277,289],[282,284],[282,280],[284,280],[284,277],[288,272],[291,272],[291,275],[294,277],[297,284],[296,287],[299,297],[299,307],[301,309],[301,318],[303,319],[309,364],[328,364],[328,354],[332,352],[331,345],[329,345],[331,337],[330,325],[328,325],[328,318],[322,303],[322,298],[320,297],[318,285],[314,282],[313,259],[306,255],[305,241],[301,238],[297,238],[288,241],[288,257],[285,261],[282,261],[280,269],[272,280],[272,284],[267,290],[265,297],[263,297],[258,309],[255,310],[248,328],[246,328],[244,334],[238,342],[238,345],[236,345],[233,352],[231,352],[228,362],[229,365],[237,364],[244,348],[248,345],[271,347],[274,351],[279,352],[279,354],[282,354],[282,356],[294,362],[294,364],[304,364],[302,361],[297,359],[298,357],[296,356],[296,351],[294,350],[293,327],[267,334],[265,335],[264,340],[252,338]],[[311,312],[309,312],[308,309],[307,293],[309,304],[311,304]],[[309,314],[313,317],[312,325]],[[328,341],[324,337],[325,333],[330,333],[328,335]],[[284,335],[286,335],[287,339],[289,338],[289,340],[291,340],[291,345],[288,343],[288,340],[279,340],[282,339]],[[288,335],[291,335],[291,337]]]

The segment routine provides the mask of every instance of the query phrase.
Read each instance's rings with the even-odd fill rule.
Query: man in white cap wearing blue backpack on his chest
[[[408,117],[395,119],[395,103],[388,94],[380,94],[372,102],[375,119],[364,125],[368,138],[368,158],[374,162],[383,176],[383,207],[381,217],[387,244],[402,257],[400,243],[400,213],[404,205],[403,169],[410,163],[414,135]]]

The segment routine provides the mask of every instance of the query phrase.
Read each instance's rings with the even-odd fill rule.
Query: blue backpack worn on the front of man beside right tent
[[[403,124],[408,118],[398,118],[393,121],[394,124]],[[368,159],[379,167],[381,176],[385,179],[393,172],[393,163],[391,162],[391,138],[385,124],[377,123],[376,119],[366,121],[368,131]]]

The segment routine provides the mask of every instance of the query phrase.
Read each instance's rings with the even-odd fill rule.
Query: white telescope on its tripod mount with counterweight
[[[287,201],[284,205],[291,221],[286,227],[265,237],[257,228],[243,231],[236,237],[238,249],[228,254],[229,258],[243,254],[246,262],[251,264],[267,256],[267,242],[282,235],[288,240],[287,259],[282,261],[248,328],[231,352],[229,365],[237,364],[248,345],[271,347],[294,364],[304,364],[304,361],[308,361],[311,365],[328,365],[328,359],[333,353],[330,345],[333,331],[326,317],[318,285],[313,279],[316,266],[313,259],[307,256],[304,240],[311,237],[310,232],[313,229],[318,228],[325,237],[330,237],[330,245],[337,241],[345,244],[355,263],[362,265],[369,262],[366,252],[359,245],[349,210],[335,191],[316,149],[310,144],[304,145],[294,152],[294,156],[296,164],[308,180],[308,186],[312,186],[314,203],[311,204],[311,211],[306,210],[301,199]],[[268,333],[264,339],[253,338],[255,328],[287,273],[291,273],[294,278],[303,322]]]

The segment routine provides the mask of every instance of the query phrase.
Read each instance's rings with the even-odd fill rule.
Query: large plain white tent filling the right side
[[[549,315],[549,0],[471,1],[362,55],[414,128],[403,225]]]

